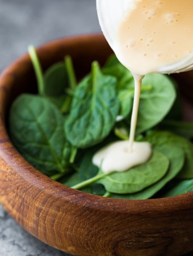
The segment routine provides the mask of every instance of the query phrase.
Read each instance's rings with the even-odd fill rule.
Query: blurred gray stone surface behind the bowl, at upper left
[[[0,0],[0,70],[28,44],[98,31],[95,0]]]

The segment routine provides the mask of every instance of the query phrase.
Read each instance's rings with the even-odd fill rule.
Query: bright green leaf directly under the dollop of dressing
[[[156,183],[167,172],[169,159],[160,152],[153,152],[152,158],[145,164],[134,167],[126,172],[114,172],[98,183],[103,184],[108,192],[136,193]],[[102,171],[98,175],[101,175]]]

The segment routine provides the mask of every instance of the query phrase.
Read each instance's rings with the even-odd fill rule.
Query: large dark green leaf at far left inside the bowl
[[[11,106],[10,137],[18,151],[40,171],[68,171],[71,146],[64,134],[64,117],[46,98],[22,94]]]

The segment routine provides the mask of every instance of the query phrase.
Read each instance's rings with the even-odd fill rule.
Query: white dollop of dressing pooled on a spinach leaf
[[[148,142],[134,142],[130,151],[129,141],[118,141],[96,152],[93,164],[101,167],[105,174],[123,172],[146,163],[151,155],[152,147]]]

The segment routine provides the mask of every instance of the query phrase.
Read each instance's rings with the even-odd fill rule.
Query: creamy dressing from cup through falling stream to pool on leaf
[[[175,65],[193,52],[193,1],[133,0],[121,20],[114,40],[114,51],[135,79],[135,97],[129,141],[111,143],[93,157],[93,164],[104,173],[127,171],[148,161],[152,148],[135,142],[141,83],[144,75]],[[173,65],[173,66],[172,66]]]

